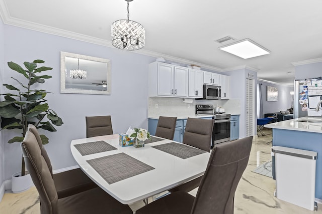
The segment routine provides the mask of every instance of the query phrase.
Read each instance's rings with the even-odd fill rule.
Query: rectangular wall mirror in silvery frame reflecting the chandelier
[[[110,60],[61,51],[60,93],[110,95]]]

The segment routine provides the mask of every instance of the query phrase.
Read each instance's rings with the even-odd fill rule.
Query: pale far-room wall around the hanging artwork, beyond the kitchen
[[[272,84],[268,82],[258,81],[262,83],[262,99],[263,99],[263,116],[266,113],[286,111],[291,108],[290,90],[293,91],[289,86],[282,86],[277,84]],[[267,86],[273,86],[277,88],[278,100],[277,101],[267,101]]]

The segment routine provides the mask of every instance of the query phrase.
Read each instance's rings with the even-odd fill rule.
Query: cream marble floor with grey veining
[[[279,200],[274,194],[275,180],[270,177],[252,172],[259,165],[271,160],[270,148],[272,147],[271,130],[265,130],[266,136],[253,140],[251,156],[248,166],[241,177],[235,192],[234,213],[235,214],[275,214],[275,213],[298,213],[298,214],[322,214],[322,204],[318,203],[317,211],[296,206],[294,204]],[[197,188],[190,194],[196,195]],[[154,197],[155,198],[155,197]],[[148,201],[152,201],[149,198]],[[144,206],[143,201],[131,204],[133,211]],[[39,195],[35,187],[22,193],[6,192],[0,202],[1,214],[39,214]]]

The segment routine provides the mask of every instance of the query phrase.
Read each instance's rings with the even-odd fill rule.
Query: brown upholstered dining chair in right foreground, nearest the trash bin
[[[221,143],[213,148],[196,197],[173,192],[138,209],[136,214],[233,213],[234,194],[246,169],[253,137]]]

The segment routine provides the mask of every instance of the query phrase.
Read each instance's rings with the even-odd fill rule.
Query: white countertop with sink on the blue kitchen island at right
[[[308,122],[305,120],[307,120]],[[277,123],[269,123],[264,127],[322,133],[322,117],[300,117],[291,120],[284,120]]]

